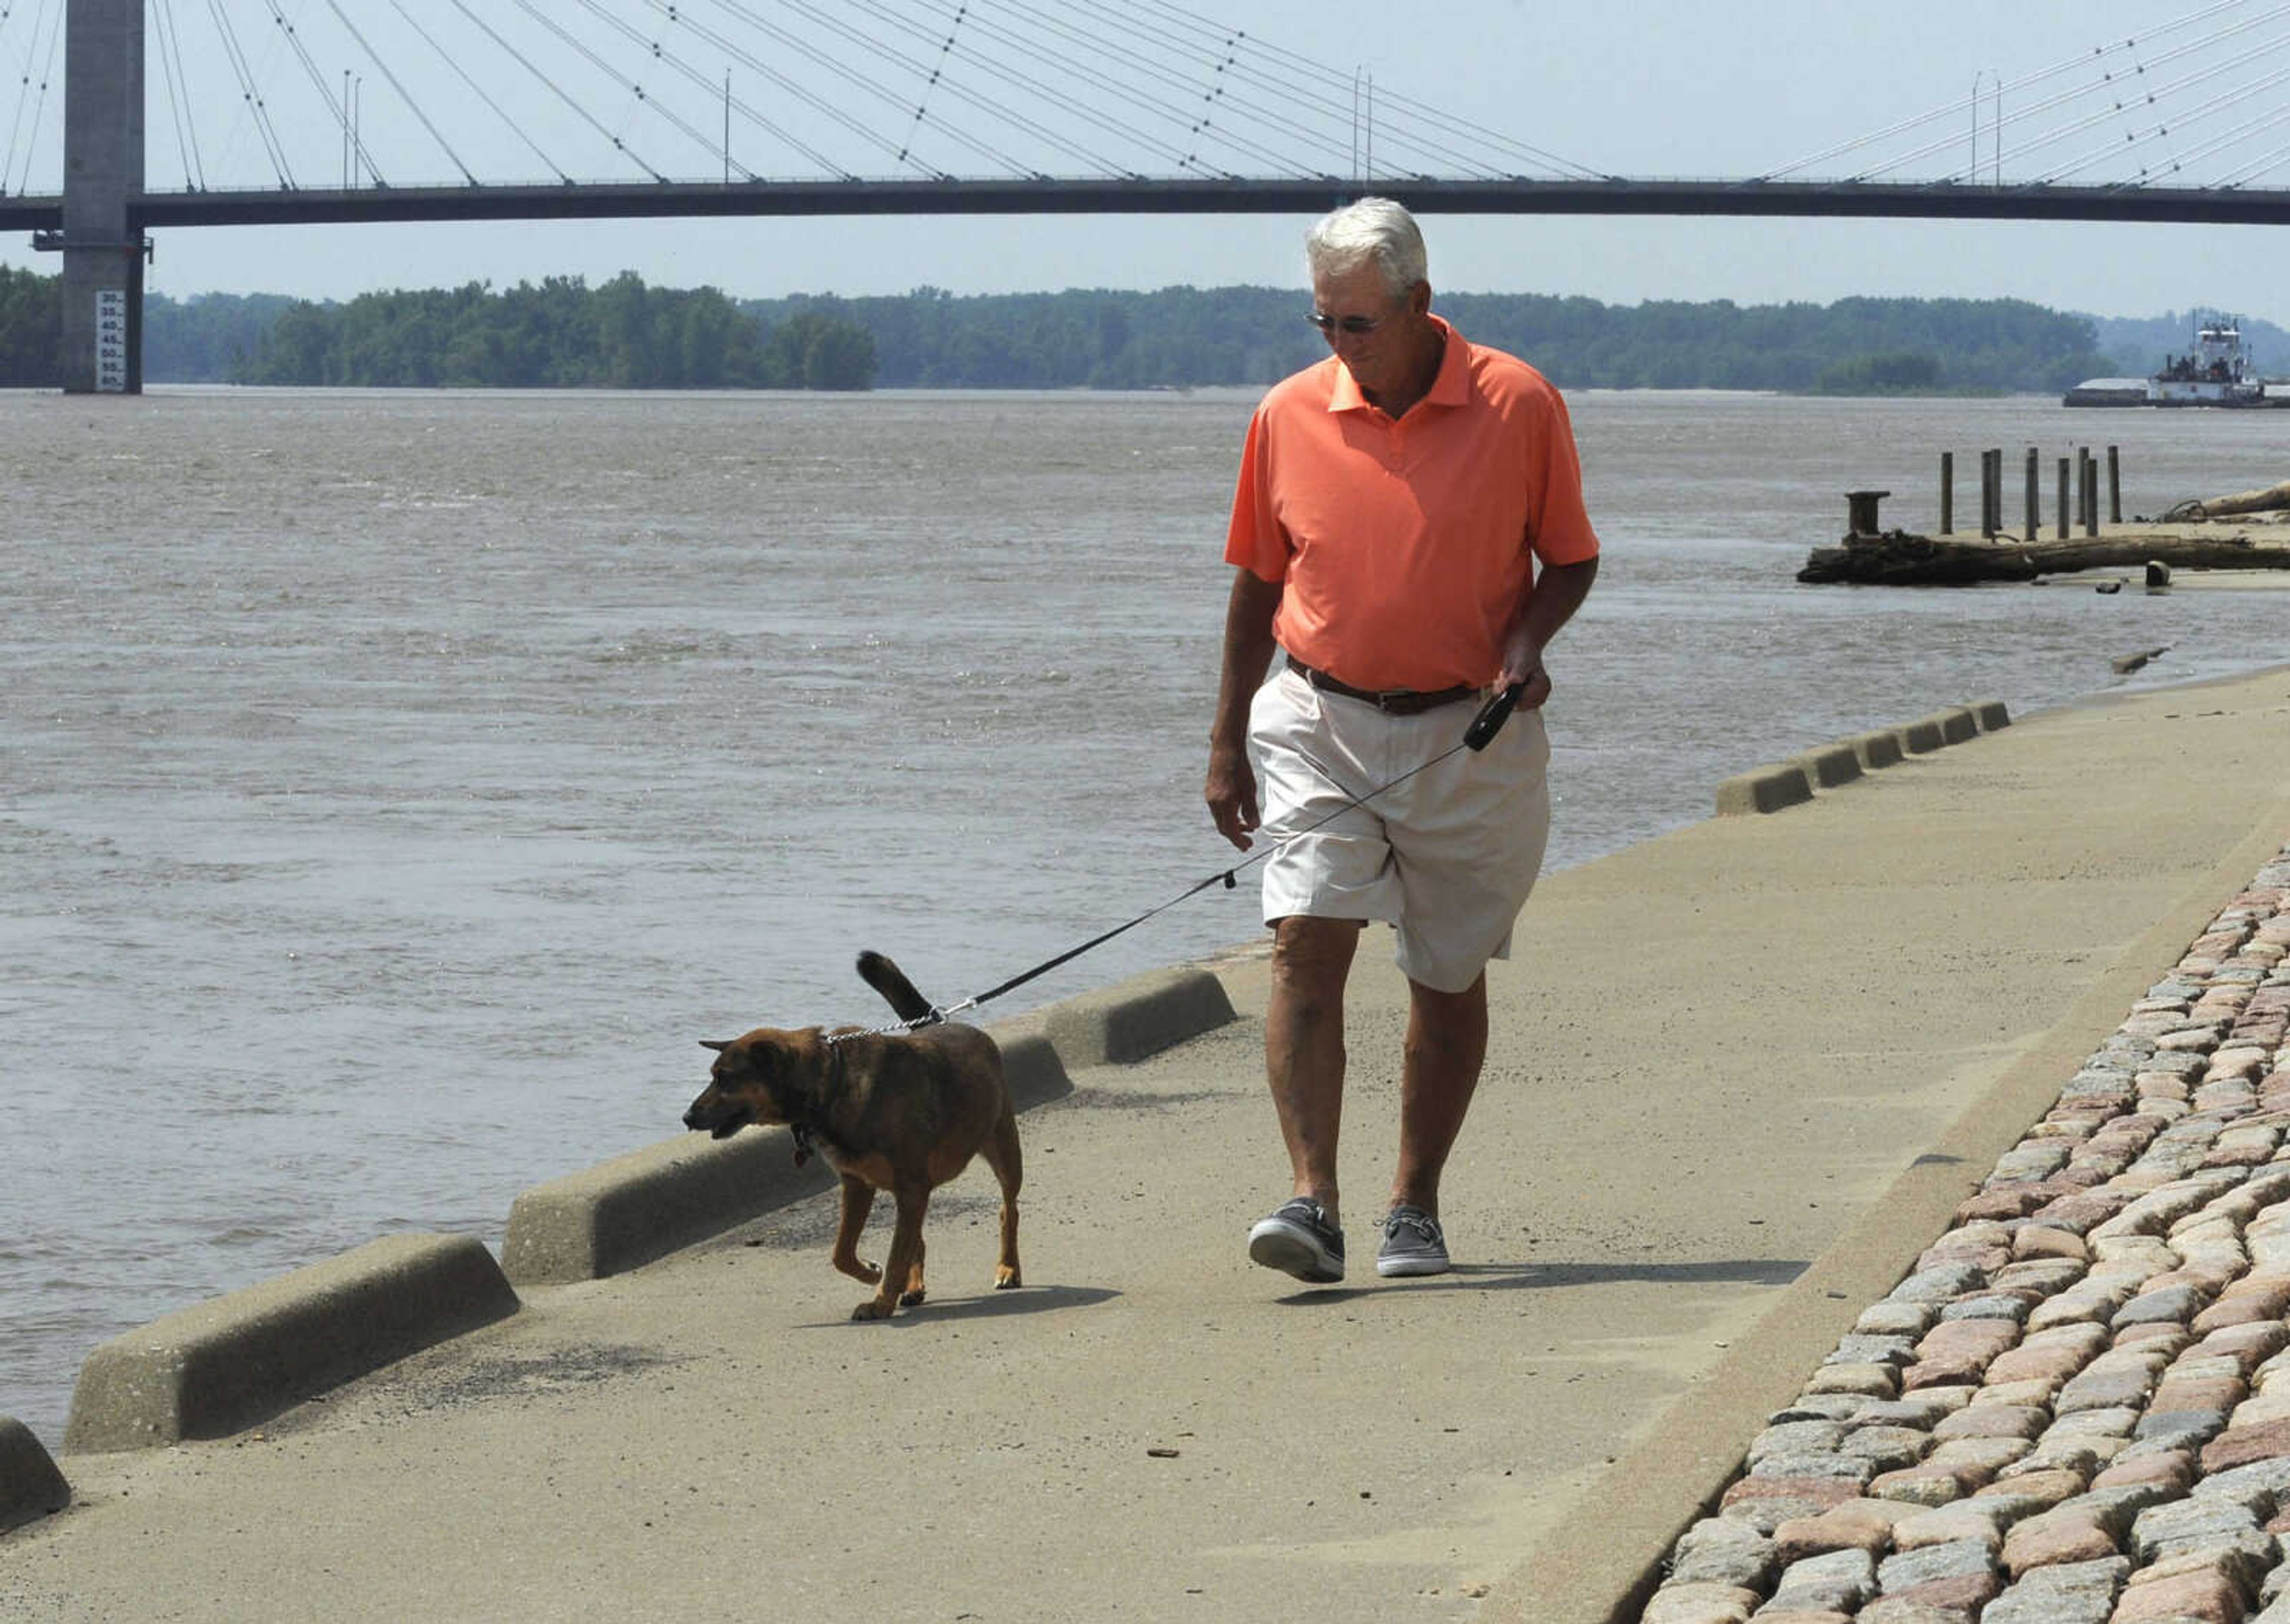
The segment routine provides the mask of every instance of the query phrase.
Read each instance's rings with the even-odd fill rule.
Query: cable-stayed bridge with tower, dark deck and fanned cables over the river
[[[169,227],[1317,213],[1367,190],[2279,224],[2285,85],[2290,5],[2214,0],[1759,174],[1660,179],[1175,0],[0,0],[0,229],[62,250],[66,387],[135,389]]]

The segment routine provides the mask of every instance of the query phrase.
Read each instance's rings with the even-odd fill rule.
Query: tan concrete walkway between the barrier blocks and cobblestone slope
[[[529,1287],[259,1434],[66,1457],[73,1509],[0,1537],[0,1615],[1608,1619],[2285,836],[2276,671],[1555,875],[1491,976],[1436,1280],[1367,1264],[1404,1006],[1376,935],[1353,1278],[1246,1262],[1285,1170],[1234,957],[1241,1022],[1021,1120],[1024,1292],[985,1290],[982,1170],[886,1326],[845,1322],[822,1200]]]

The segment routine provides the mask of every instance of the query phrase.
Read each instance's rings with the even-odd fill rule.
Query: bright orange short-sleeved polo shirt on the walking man
[[[1406,417],[1330,355],[1273,385],[1241,449],[1225,561],[1280,582],[1273,637],[1353,687],[1486,687],[1534,559],[1598,557],[1559,392],[1438,325]]]

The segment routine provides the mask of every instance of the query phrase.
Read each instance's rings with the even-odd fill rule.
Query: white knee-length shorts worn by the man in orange
[[[1463,992],[1491,957],[1511,955],[1511,921],[1550,838],[1541,712],[1516,710],[1484,751],[1456,751],[1367,797],[1461,744],[1472,715],[1456,703],[1392,717],[1282,662],[1248,712],[1257,836],[1278,843],[1264,861],[1266,925],[1292,914],[1381,919],[1399,928],[1401,973],[1434,992]]]

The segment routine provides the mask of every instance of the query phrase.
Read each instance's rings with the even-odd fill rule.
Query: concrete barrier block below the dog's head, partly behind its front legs
[[[502,1269],[515,1285],[600,1280],[834,1184],[822,1157],[795,1166],[795,1136],[783,1127],[662,1138],[520,1191]]]

